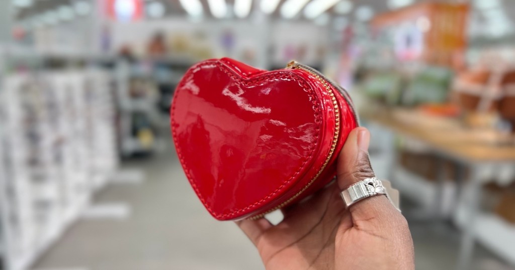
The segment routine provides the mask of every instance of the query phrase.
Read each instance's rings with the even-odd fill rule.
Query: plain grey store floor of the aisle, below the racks
[[[217,222],[203,209],[172,152],[133,160],[126,168],[146,173],[141,184],[113,184],[95,205],[122,203],[129,215],[84,219],[35,265],[38,270],[262,269],[245,235],[231,222]],[[127,209],[126,209],[127,210]],[[125,213],[127,212],[125,210]],[[419,270],[453,269],[459,235],[450,225],[410,224]],[[475,269],[505,267],[482,247]]]

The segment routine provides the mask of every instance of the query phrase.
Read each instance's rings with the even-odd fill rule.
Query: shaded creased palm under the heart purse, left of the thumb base
[[[335,238],[344,212],[334,184],[284,211],[284,220],[256,242],[266,268],[334,268]]]

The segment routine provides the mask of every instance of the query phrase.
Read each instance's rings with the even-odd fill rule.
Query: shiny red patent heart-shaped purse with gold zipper
[[[358,124],[345,90],[296,62],[267,71],[202,61],[170,111],[182,168],[218,220],[262,217],[327,185]]]

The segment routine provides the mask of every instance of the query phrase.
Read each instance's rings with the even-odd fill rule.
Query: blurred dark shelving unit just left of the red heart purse
[[[116,62],[121,154],[148,154],[163,143],[169,104],[176,85],[193,60],[162,58]]]

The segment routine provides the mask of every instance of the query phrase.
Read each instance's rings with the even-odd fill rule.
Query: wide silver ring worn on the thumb
[[[344,199],[344,202],[347,205],[347,207],[350,207],[351,205],[368,197],[372,197],[375,195],[386,195],[386,197],[393,204],[393,206],[396,207],[397,210],[399,210],[399,201],[395,199],[392,200],[392,197],[389,195],[389,193],[395,193],[398,197],[399,191],[392,189],[389,182],[386,183],[388,184],[384,186],[380,179],[377,179],[375,177],[366,178],[362,181],[359,181],[351,185],[344,191],[341,191],[340,195],[342,199]]]

